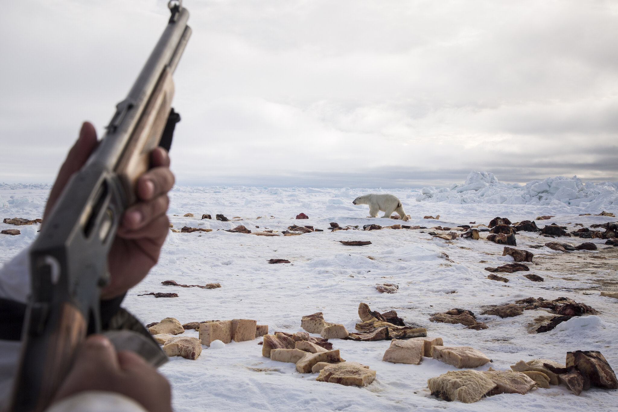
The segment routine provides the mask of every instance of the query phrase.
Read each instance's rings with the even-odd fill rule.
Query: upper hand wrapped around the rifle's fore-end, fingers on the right
[[[95,127],[84,122],[49,193],[43,224],[70,176],[82,168],[97,145]],[[167,151],[163,148],[154,149],[150,154],[150,162],[150,170],[137,180],[135,192],[138,202],[124,212],[109,250],[108,269],[111,279],[101,289],[102,300],[122,295],[148,274],[157,263],[161,246],[169,232],[167,192],[174,185],[174,175],[169,170]]]

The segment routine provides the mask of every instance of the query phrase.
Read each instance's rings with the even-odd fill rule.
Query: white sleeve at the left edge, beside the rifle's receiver
[[[30,248],[20,251],[0,269],[0,298],[21,303],[28,302],[30,295]]]

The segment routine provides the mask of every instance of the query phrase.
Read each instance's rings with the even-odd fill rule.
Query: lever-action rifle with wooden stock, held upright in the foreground
[[[109,281],[106,262],[117,226],[137,200],[135,184],[148,170],[150,151],[159,144],[169,150],[180,120],[171,109],[172,73],[191,28],[182,1],[167,6],[171,17],[155,49],[127,98],[117,104],[98,147],[62,190],[30,250],[32,294],[12,412],[43,411],[67,376],[78,345],[87,333],[101,332],[99,293]],[[166,361],[154,341],[122,332],[129,336],[110,335],[117,350],[140,351],[153,366]]]

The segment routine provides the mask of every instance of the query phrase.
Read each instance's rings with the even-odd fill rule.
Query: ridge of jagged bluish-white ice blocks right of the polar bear
[[[408,195],[413,198],[413,195]],[[530,204],[536,206],[577,206],[584,211],[601,211],[618,206],[618,182],[582,182],[577,176],[531,180],[524,186],[504,183],[493,173],[472,170],[463,184],[451,187],[423,187],[417,201],[430,203]]]

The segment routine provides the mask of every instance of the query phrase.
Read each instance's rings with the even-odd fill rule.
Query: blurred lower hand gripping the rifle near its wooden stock
[[[82,344],[54,401],[84,390],[121,393],[149,412],[172,411],[169,382],[142,356],[129,351],[116,353],[101,335],[90,335]]]

